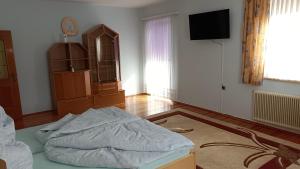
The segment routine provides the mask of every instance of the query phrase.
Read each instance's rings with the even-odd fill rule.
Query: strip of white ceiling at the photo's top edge
[[[56,0],[82,3],[95,3],[104,6],[139,8],[159,3],[165,0]]]

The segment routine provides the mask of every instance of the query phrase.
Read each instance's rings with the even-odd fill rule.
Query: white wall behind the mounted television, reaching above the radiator
[[[188,15],[227,8],[231,11],[231,38],[224,40],[223,76],[227,89],[222,91],[222,48],[209,40],[189,40]],[[300,84],[266,80],[263,86],[253,87],[241,83],[243,0],[169,0],[141,9],[140,15],[149,17],[173,11],[179,12],[178,101],[251,119],[254,89],[300,95]]]

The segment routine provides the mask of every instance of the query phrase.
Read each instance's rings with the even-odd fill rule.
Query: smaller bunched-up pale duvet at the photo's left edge
[[[33,158],[30,148],[15,140],[14,121],[0,106],[0,159],[7,169],[32,169]]]

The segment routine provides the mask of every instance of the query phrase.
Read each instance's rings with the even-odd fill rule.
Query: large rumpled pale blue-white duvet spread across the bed
[[[38,136],[48,159],[83,167],[139,168],[193,147],[187,138],[114,107],[68,115]]]

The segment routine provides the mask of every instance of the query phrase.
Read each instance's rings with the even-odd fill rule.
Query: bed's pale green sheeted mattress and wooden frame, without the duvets
[[[45,125],[21,129],[16,131],[16,140],[26,143],[33,154],[33,169],[96,169],[75,167],[49,161],[44,153],[43,145],[35,138],[35,132]],[[159,160],[152,161],[140,169],[195,169],[195,153],[188,148],[166,154]],[[99,168],[97,168],[99,169]],[[104,168],[102,168],[104,169]],[[105,168],[107,169],[107,168]]]

